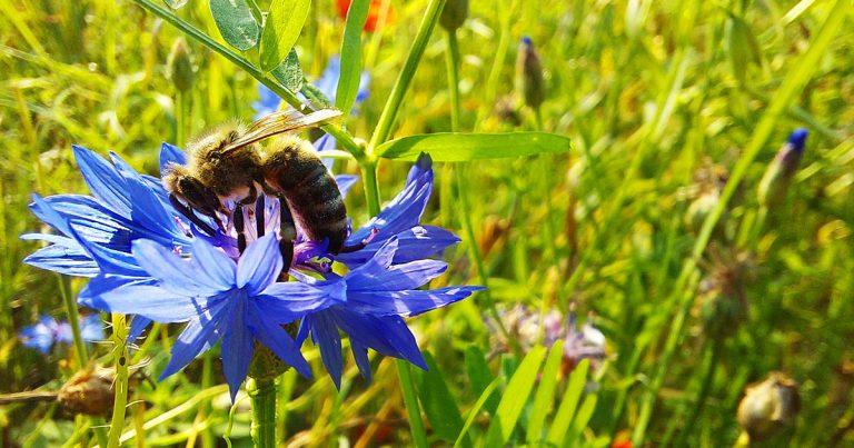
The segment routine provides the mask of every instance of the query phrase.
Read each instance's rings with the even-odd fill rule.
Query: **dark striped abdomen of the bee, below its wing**
[[[308,142],[285,137],[268,150],[262,166],[267,185],[288,201],[308,238],[328,238],[329,251],[338,253],[347,238],[347,210],[335,178]]]

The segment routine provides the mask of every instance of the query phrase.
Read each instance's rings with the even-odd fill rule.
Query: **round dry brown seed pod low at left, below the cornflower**
[[[57,401],[72,414],[107,416],[115,397],[112,381],[109,369],[79,371],[59,389]]]

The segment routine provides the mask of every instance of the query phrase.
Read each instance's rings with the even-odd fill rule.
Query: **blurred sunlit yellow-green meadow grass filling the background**
[[[298,41],[310,78],[340,48],[344,22],[334,3],[312,2]],[[427,6],[390,3],[391,21],[367,34],[361,49],[370,98],[347,126],[366,141],[378,121],[388,121],[380,118],[386,98]],[[206,1],[190,1],[177,14],[221,41]],[[457,34],[458,129],[554,132],[569,137],[573,151],[453,169],[437,163],[424,222],[449,227],[465,241],[446,255],[451,272],[436,283],[479,283],[483,275],[490,293],[410,322],[440,372],[413,371],[417,390],[407,391],[426,409],[427,442],[552,440],[560,410],[554,432],[589,446],[630,437],[636,446],[732,446],[744,387],[781,370],[800,384],[801,411],[794,428],[765,444],[854,444],[853,20],[847,1],[473,1]],[[44,357],[16,338],[41,313],[64,318],[60,280],[21,263],[37,246],[18,236],[39,229],[27,210],[32,192],[86,192],[70,146],[113,150],[155,173],[161,141],[252,117],[256,81],[190,39],[198,70],[178,106],[165,63],[180,36],[130,1],[0,2],[0,394],[52,390],[77,369],[73,347]],[[532,37],[546,71],[542,126],[525,108],[515,110],[518,122],[495,111],[515,93],[522,36]],[[446,51],[437,29],[396,121],[383,132],[451,130]],[[258,59],[257,50],[245,56]],[[796,127],[811,131],[804,159],[785,201],[765,215],[756,188]],[[714,202],[718,210],[697,215],[692,203],[703,182],[696,173],[713,163],[731,182]],[[354,161],[339,166],[359,170]],[[379,161],[383,199],[396,193],[407,169],[408,162]],[[347,206],[361,222],[368,208],[360,189],[354,191]],[[464,218],[476,241],[467,238]],[[475,242],[483,262],[468,250]],[[747,279],[737,291],[745,313],[718,321],[726,331],[708,331],[703,309],[716,296],[705,280],[725,267]],[[72,292],[82,285],[72,280]],[[593,312],[608,339],[607,361],[590,368],[596,386],[580,391],[582,382],[563,369],[556,385],[528,387],[530,378],[514,377],[543,371],[544,349],[528,358],[514,350],[473,355],[473,347],[490,352],[499,346],[499,331],[483,323],[490,300],[499,310],[525,303],[566,311],[575,303],[580,316]],[[179,329],[162,327],[171,336]],[[109,362],[111,349],[102,344],[89,351]],[[157,377],[167,354],[162,341],[149,344],[142,370]],[[338,392],[317,350],[307,354],[316,379],[280,378],[286,440],[414,442],[393,360],[374,360],[369,385],[348,361]],[[162,382],[140,381],[128,398],[125,434],[145,434],[149,445],[192,438],[212,446],[230,427],[235,446],[248,444],[248,400],[230,419],[222,382],[218,360],[212,370],[198,360]],[[564,410],[569,384],[576,408]],[[430,397],[428,385],[440,397]],[[540,385],[553,388],[550,397],[540,398]],[[704,406],[694,417],[699,396]],[[533,404],[547,398],[544,417]],[[436,421],[444,412],[453,416]],[[684,434],[688,419],[695,422]],[[532,421],[542,436],[526,432]],[[463,422],[466,435],[451,437]],[[89,425],[44,404],[0,406],[3,445],[54,446],[75,434],[90,440]]]

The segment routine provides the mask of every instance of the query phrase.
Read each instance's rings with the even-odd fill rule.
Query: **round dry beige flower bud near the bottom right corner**
[[[797,384],[781,372],[748,386],[738,404],[738,425],[751,440],[763,440],[791,425],[800,408]]]

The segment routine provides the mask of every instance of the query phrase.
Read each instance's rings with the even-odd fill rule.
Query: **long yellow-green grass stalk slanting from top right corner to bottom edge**
[[[697,263],[703,257],[706,246],[712,238],[712,231],[721,220],[724,210],[735,195],[742,180],[747,175],[751,163],[753,163],[759,151],[762,151],[765,143],[768,141],[768,138],[772,136],[777,119],[788,109],[795,97],[801,93],[806,82],[810,81],[815,73],[820,59],[825,56],[825,50],[841,29],[842,23],[845,21],[845,11],[846,8],[848,8],[848,3],[850,2],[844,0],[837,0],[830,6],[828,13],[818,31],[813,34],[808,48],[797,60],[793,61],[791,66],[792,69],[783,79],[783,82],[768,103],[765,113],[757,122],[753,136],[751,137],[751,141],[747,143],[743,156],[733,168],[729,179],[726,182],[726,187],[724,187],[724,190],[721,193],[721,200],[703,222],[703,228],[694,243],[691,256],[685,260],[682,272],[675,283],[673,292],[674,297],[678,298],[677,313],[671,320],[671,328],[667,331],[664,352],[652,376],[649,388],[643,397],[638,419],[635,425],[634,434],[632,435],[633,446],[639,447],[644,445],[646,428],[649,425],[653,408],[657,401],[658,390],[664,382],[664,376],[669,368],[669,361],[673,358],[673,354],[676,351],[683,335],[687,315],[694,303],[695,295],[693,292],[696,282],[691,280],[696,277],[695,271]]]

